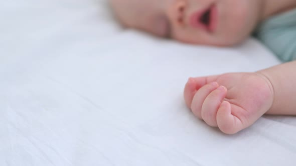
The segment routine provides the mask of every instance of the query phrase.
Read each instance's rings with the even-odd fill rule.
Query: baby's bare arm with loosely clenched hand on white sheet
[[[296,61],[257,72],[190,78],[187,106],[210,126],[236,133],[264,113],[296,115]]]

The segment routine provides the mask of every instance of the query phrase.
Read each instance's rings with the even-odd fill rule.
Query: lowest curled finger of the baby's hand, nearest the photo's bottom
[[[220,130],[227,134],[234,134],[245,128],[242,121],[231,113],[228,101],[223,101],[218,109],[217,124]]]

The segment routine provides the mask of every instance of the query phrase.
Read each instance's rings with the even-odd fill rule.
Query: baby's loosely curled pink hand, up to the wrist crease
[[[184,97],[197,117],[233,134],[253,124],[271,107],[273,89],[260,73],[226,73],[189,78]]]

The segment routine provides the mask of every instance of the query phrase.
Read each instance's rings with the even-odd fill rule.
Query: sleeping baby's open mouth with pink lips
[[[204,10],[199,10],[193,13],[190,22],[191,25],[195,28],[213,32],[216,29],[217,17],[217,7],[216,5],[211,5]]]

